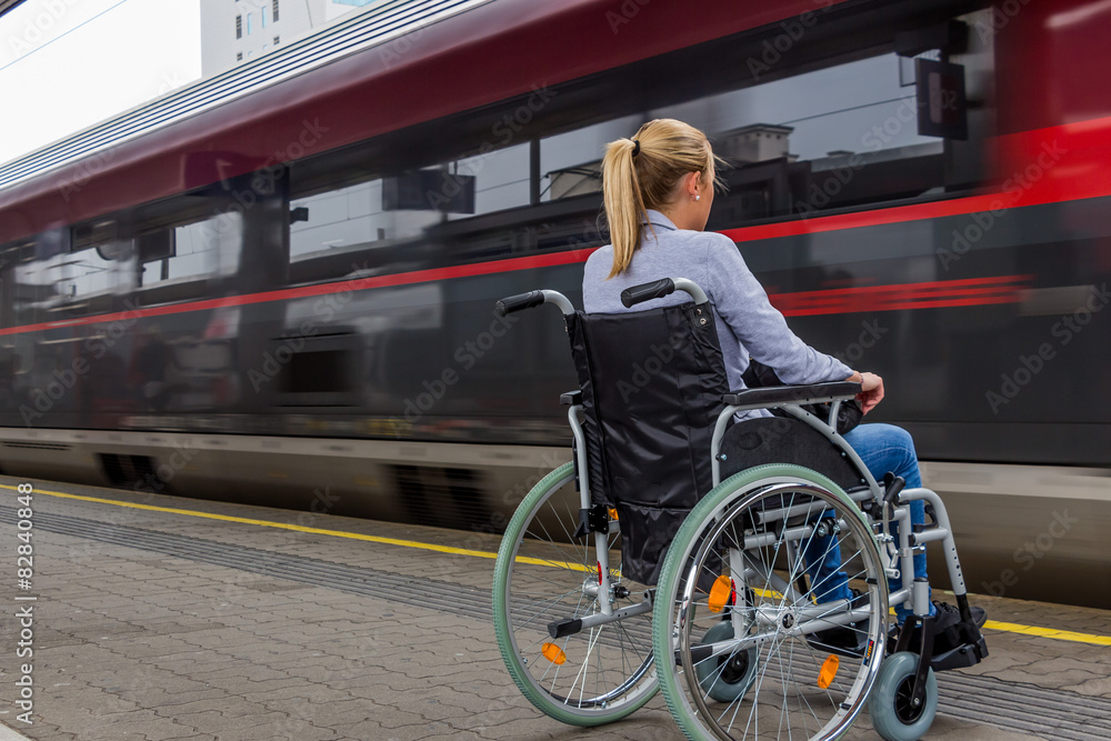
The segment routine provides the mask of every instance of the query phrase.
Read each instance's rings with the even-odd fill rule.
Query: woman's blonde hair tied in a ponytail
[[[607,280],[632,261],[648,209],[659,210],[674,201],[679,181],[691,172],[714,184],[718,159],[704,133],[674,119],[649,121],[632,139],[605,146],[602,201],[613,244],[613,269]]]

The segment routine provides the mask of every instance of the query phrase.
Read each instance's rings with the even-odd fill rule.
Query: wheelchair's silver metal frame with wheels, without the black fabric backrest
[[[707,297],[701,288],[682,278],[663,279],[629,289],[622,294],[622,301],[627,307],[631,307],[642,301],[662,298],[674,290],[682,290],[690,294],[695,304],[707,302]],[[549,290],[532,291],[503,299],[498,302],[498,310],[501,313],[508,313],[542,303],[553,303],[564,314],[574,313],[574,308],[565,297]],[[753,650],[761,641],[774,640],[774,637],[779,637],[780,633],[789,632],[791,635],[799,635],[809,641],[812,637],[831,629],[852,627],[862,621],[869,621],[867,624],[871,641],[862,662],[865,668],[861,670],[862,673],[853,689],[848,692],[848,699],[851,702],[843,702],[842,707],[834,711],[825,727],[812,737],[815,739],[839,738],[843,734],[863,708],[873,685],[877,685],[879,692],[885,695],[880,699],[879,705],[877,699],[872,698],[870,705],[873,723],[880,734],[889,741],[918,738],[932,722],[937,704],[934,669],[969,667],[987,655],[987,647],[971,619],[957,545],[941,498],[924,488],[904,489],[903,481],[892,474],[888,474],[882,483],[878,482],[863,464],[860,455],[835,429],[841,403],[852,399],[859,392],[859,384],[840,382],[828,383],[824,387],[823,389],[822,384],[818,384],[819,393],[817,394],[800,394],[799,387],[781,387],[780,389],[747,390],[723,397],[725,407],[718,415],[709,451],[713,489],[691,511],[675,542],[687,542],[683,540],[683,533],[690,530],[689,525],[695,515],[701,517],[707,527],[714,529],[712,532],[717,534],[709,537],[702,535],[702,531],[695,533],[694,540],[690,541],[691,545],[688,551],[682,554],[682,562],[679,562],[678,549],[670,549],[659,588],[647,590],[641,601],[623,607],[619,607],[619,602],[628,597],[628,590],[619,583],[620,579],[614,582],[609,560],[613,534],[619,531],[620,523],[612,515],[602,521],[597,507],[592,504],[588,442],[580,421],[580,414],[583,410],[581,391],[565,393],[561,397],[561,403],[569,407],[568,422],[574,439],[573,480],[578,484],[580,510],[578,529],[573,538],[591,537],[593,559],[597,560],[597,583],[593,578],[583,578],[582,580],[581,598],[591,601],[589,613],[583,611],[582,614],[551,620],[547,625],[548,632],[554,641],[588,631],[590,640],[593,641],[595,631],[652,612],[654,657],[663,653],[669,654],[668,661],[655,661],[654,665],[657,672],[663,674],[661,683],[668,705],[680,728],[689,738],[734,738],[731,729],[721,727],[720,717],[714,720],[714,711],[709,708],[708,701],[711,699],[724,701],[723,697],[729,695],[730,692],[735,693],[738,691],[735,688],[742,684],[738,680],[735,684],[730,685],[733,689],[727,687],[725,690],[721,690],[719,685],[724,685],[721,680],[713,678],[708,680],[705,672],[698,669],[697,664],[705,661],[721,663],[727,659],[733,661],[733,657],[744,651],[753,657],[751,661],[754,664],[757,654],[753,653]],[[822,420],[802,408],[814,403],[830,403],[830,415],[827,420]],[[795,471],[797,467],[764,465],[733,474],[727,479],[723,488],[721,462],[724,457],[721,453],[721,444],[725,431],[737,413],[754,409],[781,409],[792,418],[820,432],[853,463],[862,477],[861,483],[863,485],[845,493],[837,484],[817,472],[808,472],[807,469],[801,468]],[[553,471],[533,491],[538,492],[544,485],[558,483],[556,480],[565,483],[570,473],[568,468],[565,464]],[[808,475],[808,473],[813,473],[813,475]],[[561,474],[562,478],[558,474]],[[748,479],[753,480],[750,482]],[[738,490],[740,493],[729,490],[730,482],[742,480],[745,481],[747,489]],[[775,498],[782,498],[784,492],[801,492],[804,501],[801,504],[794,504],[792,494],[791,504],[783,504],[778,509],[774,504],[772,504],[772,509],[768,509],[767,503],[759,504],[757,509],[745,509],[755,507],[754,502],[758,500],[775,502]],[[530,505],[531,497],[532,494],[522,503],[522,510],[526,509],[526,505]],[[924,501],[928,510],[932,510],[930,513],[933,522],[915,532],[911,527],[909,504],[918,500]],[[531,505],[536,507],[536,503]],[[701,510],[705,511],[701,512]],[[699,573],[698,567],[689,571],[684,571],[684,568],[691,558],[694,558],[695,564],[704,565],[709,552],[714,548],[720,550],[720,545],[711,545],[711,543],[719,544],[722,539],[728,540],[734,537],[725,533],[725,523],[732,522],[735,527],[735,523],[741,521],[738,514],[741,511],[748,518],[744,520],[745,522],[757,522],[758,520],[760,522],[752,533],[740,535],[739,547],[735,547],[734,543],[725,549],[728,551],[725,560],[729,564],[729,573],[743,577],[740,590],[730,579],[727,590],[729,601],[723,603],[722,611],[725,613],[725,617],[722,618],[723,624],[732,624],[732,631],[728,628],[719,630],[715,627],[707,633],[704,641],[709,642],[691,644],[689,638],[691,629],[687,628],[688,634],[684,638],[682,625],[691,617],[691,611],[694,609],[695,593],[699,592],[699,585],[695,583]],[[831,511],[834,514],[832,519],[828,517]],[[522,514],[519,512],[518,515],[514,515],[514,521],[519,520]],[[823,525],[823,522],[827,524]],[[832,524],[829,524],[830,522]],[[898,528],[893,528],[895,523]],[[775,553],[778,553],[779,544],[783,544],[787,547],[785,552],[789,561],[801,563],[794,551],[799,548],[798,544],[803,542],[803,539],[807,539],[805,542],[809,544],[822,528],[839,532],[839,528],[842,527],[847,531],[852,531],[851,537],[860,542],[858,554],[862,553],[865,569],[871,569],[867,580],[870,584],[869,593],[879,598],[878,601],[870,598],[863,607],[854,605],[843,599],[834,602],[808,600],[807,594],[800,592],[794,584],[798,574],[790,579],[783,579],[777,573],[778,555],[772,555],[770,561],[767,558],[758,561],[749,555],[752,549],[764,547],[764,544],[770,547],[773,543],[777,548]],[[514,562],[518,560],[517,549],[524,542],[523,532],[523,529],[514,530],[513,524],[507,531],[496,567],[494,588],[494,620],[499,643],[507,665],[518,685],[533,704],[537,704],[546,713],[564,722],[581,725],[612,722],[643,705],[654,694],[654,688],[649,687],[644,679],[645,672],[652,668],[653,657],[644,660],[612,692],[602,692],[589,700],[583,699],[584,693],[580,688],[578,701],[571,695],[562,697],[554,691],[550,692],[553,701],[549,701],[544,698],[544,683],[530,679],[528,675],[530,670],[526,669],[528,660],[522,661],[523,651],[514,639],[512,617],[509,614],[511,599],[509,587],[506,585],[512,578]],[[689,532],[688,535],[690,535]],[[703,538],[703,540],[699,541],[699,538]],[[837,542],[835,539],[834,542]],[[961,612],[961,628],[964,631],[962,634],[965,639],[962,645],[941,657],[933,655],[933,621],[929,618],[931,608],[929,582],[915,581],[913,575],[914,553],[920,549],[924,550],[925,543],[929,542],[940,542],[944,550],[950,581]],[[874,563],[869,565],[868,561],[873,558]],[[567,565],[567,563],[561,565]],[[581,567],[578,568],[581,570]],[[752,591],[749,587],[751,577],[762,580],[765,588],[770,587],[771,592],[781,598],[781,603],[789,601],[794,605],[790,611],[791,625],[789,630],[785,624],[781,629],[779,621],[785,621],[784,612],[782,609],[775,609],[774,604],[770,608],[753,607],[752,609],[743,608],[740,604],[741,601],[754,599],[749,597]],[[899,579],[901,588],[889,593],[888,578]],[[727,577],[722,575],[720,579],[727,579]],[[662,590],[665,584],[670,590],[667,600],[657,599],[658,591]],[[501,599],[499,599],[500,589],[504,591]],[[813,585],[809,589],[812,591]],[[800,604],[802,607],[798,607]],[[893,672],[888,672],[888,674],[894,674],[893,677],[885,677],[884,668],[881,667],[888,643],[885,621],[889,605],[905,605],[913,613],[912,618],[908,618],[907,624],[900,631],[895,642],[895,652],[902,658],[894,662],[899,664],[898,668]],[[713,607],[711,605],[709,609],[712,611]],[[575,608],[575,612],[579,612],[579,608]],[[747,614],[743,620],[734,617],[742,612]],[[665,619],[665,621],[661,619]],[[747,623],[741,624],[743,621]],[[751,631],[757,623],[765,627],[773,625],[775,629],[773,638],[767,638],[767,634],[763,638],[753,635]],[[711,634],[713,635],[712,640]],[[918,639],[919,645],[914,653],[908,653],[911,649],[912,638]],[[549,645],[554,644],[544,643],[544,655],[547,655],[547,647]],[[674,661],[670,660],[671,653],[674,653]],[[635,664],[635,661],[632,664]],[[829,664],[830,662],[827,660],[825,665]],[[832,665],[835,673],[838,663],[833,662]],[[892,663],[892,665],[894,664]],[[680,669],[685,675],[683,680],[678,678]],[[584,664],[579,670],[580,674],[585,673],[587,670]],[[723,671],[724,669],[720,669],[719,675],[723,675]],[[747,668],[741,673],[744,674],[745,671],[748,675],[751,675],[755,670]],[[708,681],[710,682],[709,689]],[[751,685],[751,679],[744,681]],[[719,688],[719,690],[715,692],[714,688]],[[748,687],[744,687],[740,690],[740,694],[743,695],[747,691]],[[631,692],[632,698],[623,704],[619,703],[617,702],[619,692],[621,694]],[[575,704],[577,702],[578,704]],[[611,702],[614,703],[612,707]],[[739,699],[730,695],[729,702],[739,702]],[[567,712],[561,712],[561,705],[568,709]],[[733,714],[737,714],[735,710]],[[877,715],[883,715],[883,718],[878,721]],[[907,719],[913,722],[908,722]],[[745,728],[747,733],[748,728]]]

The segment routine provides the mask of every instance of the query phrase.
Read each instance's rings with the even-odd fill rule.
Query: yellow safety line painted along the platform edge
[[[0,489],[11,489],[17,491],[17,487],[0,483]],[[256,524],[262,528],[278,528],[280,530],[294,530],[297,532],[309,532],[318,535],[332,535],[336,538],[349,538],[351,540],[362,540],[371,543],[384,543],[387,545],[401,545],[403,548],[417,548],[438,553],[451,553],[453,555],[472,555],[480,559],[497,559],[498,554],[492,551],[476,551],[468,548],[452,548],[451,545],[437,545],[434,543],[422,543],[414,540],[401,540],[400,538],[382,538],[380,535],[364,535],[359,532],[344,532],[342,530],[324,530],[322,528],[307,528],[300,524],[287,524],[284,522],[271,522],[270,520],[253,520],[251,518],[237,518],[230,514],[216,514],[213,512],[199,512],[197,510],[180,510],[171,507],[154,507],[153,504],[137,504],[134,502],[121,502],[114,499],[101,499],[99,497],[82,497],[81,494],[66,494],[60,491],[47,491],[36,489],[33,494],[47,494],[48,497],[59,497],[61,499],[76,499],[83,502],[97,502],[99,504],[114,504],[117,507],[129,507],[136,510],[148,510],[151,512],[169,512],[171,514],[187,514],[189,517],[203,518],[207,520],[221,520],[223,522],[239,522],[242,524]],[[548,559],[533,559],[524,555],[517,558],[518,563],[531,565],[560,567],[573,571],[593,571],[591,567],[581,563],[570,563],[552,561]],[[762,591],[762,590],[761,590]],[[1037,635],[1055,641],[1071,641],[1074,643],[1090,643],[1093,645],[1111,647],[1111,635],[1095,635],[1093,633],[1079,633],[1071,630],[1054,630],[1052,628],[1039,628],[1037,625],[1022,625],[1013,622],[999,622],[989,620],[984,623],[989,630],[998,630],[1008,633],[1020,633],[1023,635]]]

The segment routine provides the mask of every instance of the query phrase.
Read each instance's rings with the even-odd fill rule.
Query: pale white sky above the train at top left
[[[0,17],[0,163],[200,74],[199,0],[27,0]]]

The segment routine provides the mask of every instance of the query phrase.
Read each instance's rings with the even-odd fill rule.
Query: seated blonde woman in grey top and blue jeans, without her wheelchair
[[[771,369],[780,383],[855,381],[861,384],[857,401],[867,414],[883,399],[883,379],[852,370],[807,346],[771,306],[733,241],[703,231],[713,206],[715,160],[705,134],[673,119],[649,121],[632,139],[619,139],[607,147],[602,174],[612,243],[587,260],[583,309],[588,313],[635,310],[622,304],[623,290],[661,276],[683,276],[698,283],[710,299],[731,389],[745,388],[743,379],[751,358]],[[684,294],[660,299],[672,304],[687,300]],[[771,412],[752,410],[745,417],[760,415]],[[908,488],[922,485],[914,442],[905,430],[892,424],[862,424],[845,432],[844,438],[872,475],[881,479],[890,471],[901,477]],[[912,502],[911,523],[924,522],[924,502]],[[815,538],[807,548],[807,571],[813,583],[829,584],[822,594],[824,601],[850,599],[839,552],[828,548],[828,540]],[[914,577],[927,577],[925,553],[914,557]],[[893,591],[898,585],[891,588]],[[939,628],[960,620],[954,607],[940,602],[933,603],[931,614],[939,609],[943,611]],[[982,625],[984,611],[972,610],[977,624]],[[900,604],[895,613],[902,622],[909,610]],[[944,631],[939,633],[935,651],[952,648],[944,644],[947,635]],[[851,640],[851,635],[830,638]]]

